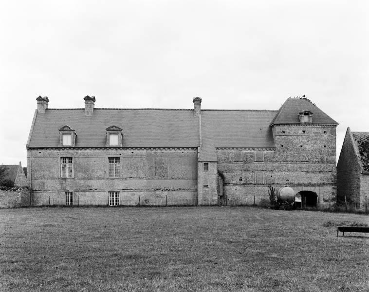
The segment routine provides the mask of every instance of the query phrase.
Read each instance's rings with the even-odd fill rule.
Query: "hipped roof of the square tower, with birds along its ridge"
[[[329,117],[325,112],[320,110],[312,102],[302,98],[288,98],[279,109],[279,112],[272,121],[271,125],[300,124],[298,113],[301,110],[311,110],[313,112],[313,125],[338,125],[336,121]]]

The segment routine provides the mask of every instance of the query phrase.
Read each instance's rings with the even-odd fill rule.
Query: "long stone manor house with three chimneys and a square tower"
[[[49,109],[27,142],[32,205],[267,204],[289,185],[304,206],[336,198],[336,126],[305,98],[279,110]]]

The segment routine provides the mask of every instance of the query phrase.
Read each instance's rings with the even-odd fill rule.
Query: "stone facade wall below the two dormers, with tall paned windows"
[[[73,178],[61,178],[61,157],[73,158]],[[120,157],[119,178],[109,157]],[[65,205],[65,192],[74,205],[108,205],[110,191],[121,205],[197,204],[197,148],[32,149],[28,165],[36,206]]]

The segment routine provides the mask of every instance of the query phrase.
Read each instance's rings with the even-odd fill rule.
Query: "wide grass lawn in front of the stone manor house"
[[[0,210],[0,291],[369,291],[369,216],[253,207]]]

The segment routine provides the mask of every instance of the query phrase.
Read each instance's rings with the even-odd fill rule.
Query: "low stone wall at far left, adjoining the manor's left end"
[[[0,187],[0,208],[28,207],[30,190],[28,187]]]

